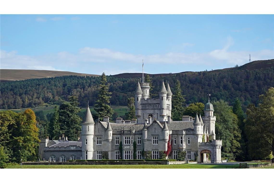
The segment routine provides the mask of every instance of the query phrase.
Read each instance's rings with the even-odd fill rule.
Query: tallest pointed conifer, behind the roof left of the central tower
[[[99,94],[97,97],[98,100],[96,100],[94,110],[96,111],[95,116],[102,121],[104,116],[108,116],[111,119],[113,114],[113,109],[109,106],[111,98],[110,95],[112,94],[112,92],[109,92],[107,77],[104,72],[101,75],[100,83],[101,84],[99,85]]]

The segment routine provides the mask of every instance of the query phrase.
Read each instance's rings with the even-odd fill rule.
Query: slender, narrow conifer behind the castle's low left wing
[[[50,137],[56,140],[60,135],[59,106],[55,105],[53,116],[50,120]]]

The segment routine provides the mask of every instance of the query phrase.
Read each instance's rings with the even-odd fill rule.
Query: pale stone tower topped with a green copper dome
[[[204,124],[208,128],[208,131],[211,132],[213,131],[213,134],[215,134],[215,121],[216,121],[216,116],[213,116],[213,105],[210,103],[209,99],[208,102],[205,105],[204,112]],[[212,136],[213,140],[215,140],[215,136]]]

